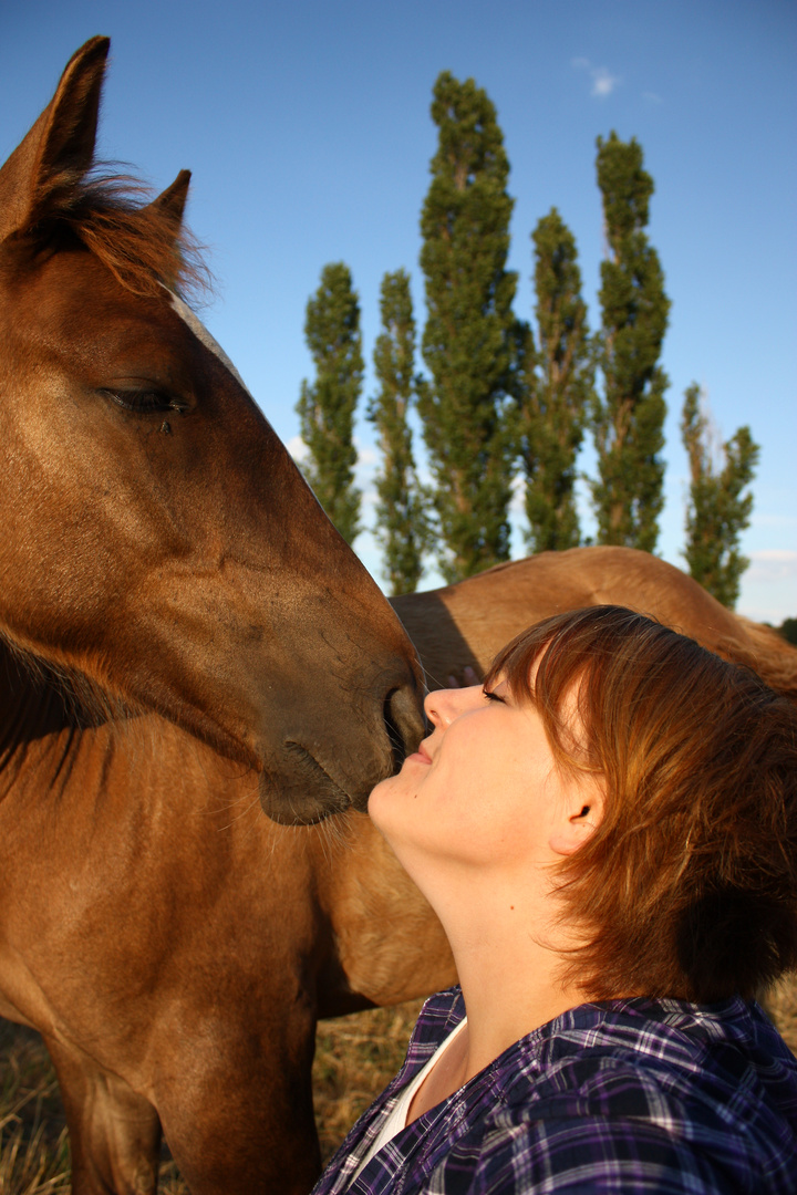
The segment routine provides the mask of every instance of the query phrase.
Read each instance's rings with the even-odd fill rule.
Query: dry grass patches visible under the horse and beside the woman
[[[421,1001],[373,1009],[318,1030],[313,1089],[324,1158],[396,1074]],[[797,1054],[797,976],[772,993],[770,1012]],[[0,1021],[0,1195],[68,1195],[69,1146],[53,1068],[37,1034]],[[164,1158],[160,1195],[188,1195]]]

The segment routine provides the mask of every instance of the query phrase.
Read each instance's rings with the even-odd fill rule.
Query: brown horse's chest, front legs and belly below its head
[[[0,1015],[48,1046],[73,1189],[154,1191],[163,1132],[195,1195],[309,1190],[317,1018],[449,982],[436,920],[366,815],[280,826],[174,724],[78,725],[0,664]]]

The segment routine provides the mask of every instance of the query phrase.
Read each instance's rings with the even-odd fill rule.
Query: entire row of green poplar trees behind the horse
[[[378,390],[368,400],[381,451],[376,537],[393,593],[413,590],[436,553],[448,582],[509,559],[509,504],[522,476],[529,551],[582,543],[577,458],[589,433],[597,476],[588,479],[600,544],[652,552],[663,507],[668,378],[660,357],[670,300],[646,226],[654,182],[638,142],[597,139],[596,174],[606,256],[600,327],[590,331],[576,241],[556,208],[532,232],[534,324],[514,312],[517,274],[507,269],[509,160],[496,110],[472,79],[443,72],[431,117],[437,151],[421,213],[427,320],[416,368],[410,277],[384,276]],[[361,531],[354,484],[354,419],[364,361],[360,304],[342,263],[324,268],[307,304],[315,367],[298,412],[305,471],[343,537]],[[431,484],[418,479],[409,422],[415,410]],[[685,557],[692,576],[728,606],[749,563],[748,526],[759,447],[747,427],[716,443],[697,385],[685,394],[681,433],[691,486]]]

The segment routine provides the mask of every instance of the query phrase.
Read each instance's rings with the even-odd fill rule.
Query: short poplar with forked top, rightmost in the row
[[[732,609],[740,578],[750,563],[738,551],[738,540],[750,521],[753,495],[742,490],[755,476],[759,446],[748,427],[740,428],[722,446],[722,465],[716,470],[710,433],[700,410],[700,387],[692,385],[681,416],[691,474],[683,556],[694,580]]]

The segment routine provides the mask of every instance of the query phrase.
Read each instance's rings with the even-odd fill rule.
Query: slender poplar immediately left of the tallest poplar
[[[415,319],[404,270],[382,278],[380,311],[382,332],[374,348],[379,392],[368,404],[368,418],[379,431],[382,452],[376,476],[376,539],[385,552],[384,577],[391,593],[401,594],[417,589],[430,540],[407,422],[416,391]]]

